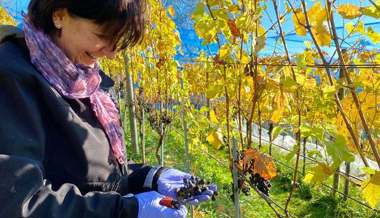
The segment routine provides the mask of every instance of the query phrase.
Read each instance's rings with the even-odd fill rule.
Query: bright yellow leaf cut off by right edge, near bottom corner
[[[380,171],[376,171],[371,178],[362,185],[363,198],[373,208],[380,202]]]

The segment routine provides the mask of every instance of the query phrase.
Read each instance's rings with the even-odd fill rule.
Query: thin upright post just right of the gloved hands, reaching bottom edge
[[[237,140],[232,138],[232,149],[233,149],[233,162],[232,162],[232,175],[233,175],[233,193],[234,193],[234,204],[235,204],[235,217],[240,218],[240,197],[239,197],[239,184],[238,178],[239,173],[236,165],[239,164],[239,153]]]

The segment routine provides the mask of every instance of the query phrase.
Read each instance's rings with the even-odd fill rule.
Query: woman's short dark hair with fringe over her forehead
[[[57,32],[52,15],[58,9],[101,25],[118,50],[139,43],[144,34],[145,0],[31,0],[28,17],[50,35]]]

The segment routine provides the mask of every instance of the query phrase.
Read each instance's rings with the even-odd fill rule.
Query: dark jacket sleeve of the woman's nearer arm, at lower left
[[[137,200],[117,192],[89,192],[44,177],[45,136],[35,78],[0,71],[0,217],[129,218]]]

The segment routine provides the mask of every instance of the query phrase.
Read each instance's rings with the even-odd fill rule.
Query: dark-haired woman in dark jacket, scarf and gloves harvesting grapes
[[[31,0],[23,30],[0,28],[0,217],[186,217],[159,202],[189,174],[125,163],[97,64],[141,40],[143,11],[143,0]]]

